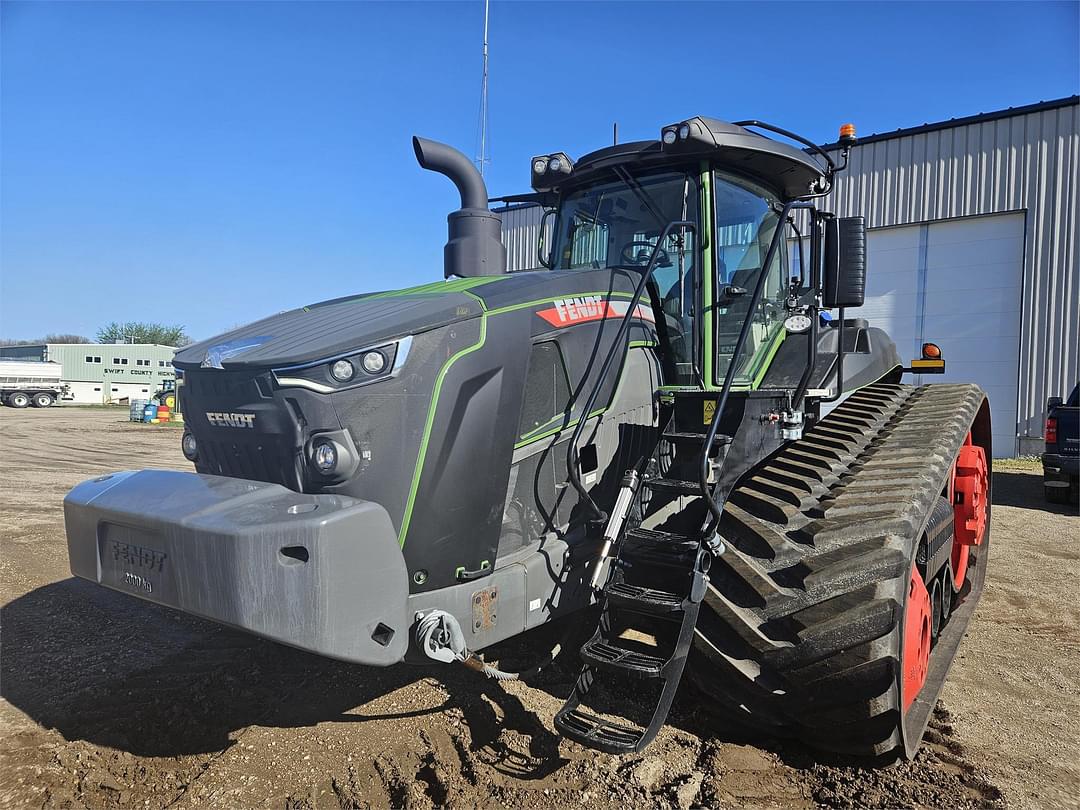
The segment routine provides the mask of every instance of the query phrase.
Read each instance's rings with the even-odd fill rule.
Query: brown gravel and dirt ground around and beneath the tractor
[[[1036,472],[996,469],[987,589],[914,761],[820,761],[689,688],[617,757],[552,730],[572,660],[535,687],[351,666],[71,579],[71,486],[187,467],[179,431],[124,416],[0,408],[0,807],[1080,807],[1080,519]]]

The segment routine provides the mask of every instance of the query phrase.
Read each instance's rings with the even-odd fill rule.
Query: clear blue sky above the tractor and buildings
[[[1076,93],[1067,3],[492,2],[492,194],[532,154],[691,114],[820,141]],[[0,337],[183,323],[442,278],[483,3],[4,2]],[[819,49],[814,53],[809,49]]]

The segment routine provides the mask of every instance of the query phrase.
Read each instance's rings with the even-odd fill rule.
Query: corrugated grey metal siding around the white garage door
[[[856,146],[821,207],[868,228],[1024,212],[1017,433],[1042,436],[1048,396],[1076,384],[1080,105]],[[874,257],[869,257],[874,272]],[[1022,443],[1022,451],[1034,450]]]

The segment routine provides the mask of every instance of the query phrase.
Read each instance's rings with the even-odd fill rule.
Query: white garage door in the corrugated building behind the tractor
[[[867,241],[858,316],[886,329],[905,362],[937,343],[946,373],[915,381],[977,382],[990,399],[994,455],[1014,455],[1024,215],[882,228]]]

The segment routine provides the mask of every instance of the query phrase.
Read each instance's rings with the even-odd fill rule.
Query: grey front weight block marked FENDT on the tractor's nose
[[[64,499],[71,572],[240,630],[364,664],[408,646],[408,575],[378,503],[166,470]]]

